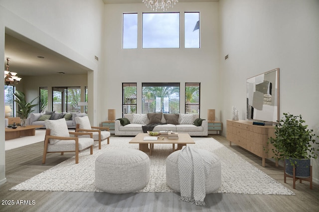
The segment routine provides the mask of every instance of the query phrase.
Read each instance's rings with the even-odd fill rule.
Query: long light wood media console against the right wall
[[[249,152],[262,158],[262,165],[265,166],[266,158],[274,156],[273,146],[268,144],[268,138],[275,137],[274,126],[253,125],[250,121],[227,120],[227,140],[229,145],[235,143]],[[278,166],[278,161],[276,161]]]

